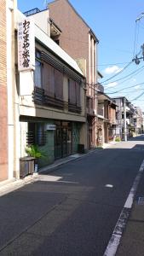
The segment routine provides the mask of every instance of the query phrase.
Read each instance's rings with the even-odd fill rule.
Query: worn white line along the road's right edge
[[[128,195],[128,198],[125,201],[123,210],[120,213],[118,222],[113,230],[111,239],[108,242],[106,251],[103,256],[114,256],[118,250],[118,245],[119,245],[120,239],[122,237],[125,224],[127,223],[127,219],[130,215],[130,209],[131,209],[133,201],[134,201],[135,192],[136,192],[138,184],[140,183],[141,175],[142,175],[143,171],[144,171],[144,160],[142,161],[141,167],[135,177],[133,186],[130,189],[130,194]]]

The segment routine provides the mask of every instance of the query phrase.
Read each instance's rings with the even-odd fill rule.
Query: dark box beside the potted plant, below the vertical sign
[[[20,178],[34,172],[34,160],[35,158],[31,156],[20,158]]]

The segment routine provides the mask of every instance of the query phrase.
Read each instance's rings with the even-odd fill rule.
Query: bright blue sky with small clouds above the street
[[[50,2],[18,0],[18,9],[21,12],[35,7],[44,9],[46,3]],[[70,3],[100,40],[98,69],[104,76],[100,82],[105,85],[105,92],[113,97],[126,96],[130,102],[144,111],[144,61],[141,60],[139,65],[135,65],[133,61],[126,67],[135,54],[140,52],[141,44],[144,44],[144,17],[135,22],[144,12],[144,2],[142,0],[70,0]],[[141,53],[138,56],[141,57]],[[113,75],[116,76],[112,78]],[[104,82],[105,80],[107,81]],[[116,91],[118,93],[112,94]]]

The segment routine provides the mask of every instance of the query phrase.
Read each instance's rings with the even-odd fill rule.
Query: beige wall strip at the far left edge
[[[0,1],[0,181],[8,178],[8,96],[6,67],[6,1]]]

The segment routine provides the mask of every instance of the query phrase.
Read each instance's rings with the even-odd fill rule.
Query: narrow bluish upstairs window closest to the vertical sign
[[[35,86],[42,88],[42,63],[40,58],[41,58],[41,54],[38,50],[36,50],[34,84]]]

